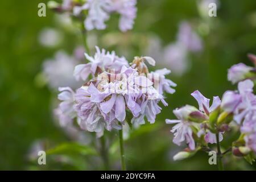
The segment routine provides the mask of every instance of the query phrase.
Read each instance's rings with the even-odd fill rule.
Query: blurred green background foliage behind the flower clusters
[[[49,9],[46,17],[39,17],[40,2],[47,3],[43,0],[0,1],[0,169],[104,169],[97,155],[100,140],[82,131],[77,131],[79,135],[82,133],[82,137],[77,137],[76,131],[71,134],[64,130],[53,117],[57,92],[43,75],[43,63],[59,50],[72,55],[74,49],[82,45],[82,37],[76,23],[70,24],[65,17],[57,17]],[[209,165],[209,156],[204,152],[174,162],[172,157],[185,146],[172,143],[172,126],[166,125],[164,120],[174,118],[172,110],[176,107],[197,105],[190,96],[194,90],[199,89],[212,98],[221,97],[225,90],[236,89],[236,85],[227,81],[227,69],[239,62],[250,65],[246,54],[256,53],[256,1],[218,1],[217,17],[212,18],[205,15],[200,3],[195,0],[138,0],[132,31],[121,33],[117,27],[118,16],[114,15],[106,30],[89,32],[88,44],[92,52],[97,44],[125,55],[128,60],[147,53],[156,59],[157,67],[174,68],[168,78],[176,82],[177,87],[175,94],[166,95],[169,106],[163,106],[154,125],[147,123],[126,136],[128,169],[217,169]],[[184,21],[199,36],[201,50],[186,53],[181,63],[179,60],[163,61],[164,52],[168,52],[163,50],[176,42],[180,23]],[[48,33],[50,30],[49,40],[47,30]],[[225,136],[221,142],[224,148],[237,137],[236,133]],[[105,140],[111,169],[119,169],[117,133],[107,131]],[[46,166],[37,164],[35,151],[39,148],[55,148],[54,155],[47,155]],[[226,156],[224,164],[228,170],[256,169],[255,163],[250,165],[231,155]]]

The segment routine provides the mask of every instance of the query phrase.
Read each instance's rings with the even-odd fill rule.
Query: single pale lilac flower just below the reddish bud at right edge
[[[233,84],[245,80],[253,67],[249,67],[243,63],[235,64],[228,70],[228,80]]]

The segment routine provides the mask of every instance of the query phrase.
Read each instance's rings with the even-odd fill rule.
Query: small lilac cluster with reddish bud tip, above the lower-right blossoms
[[[249,67],[243,63],[238,63],[233,65],[228,71],[228,80],[233,84],[236,84],[239,81],[250,79],[255,80],[256,78],[256,56],[253,54],[247,55],[251,62],[254,64],[254,67]]]

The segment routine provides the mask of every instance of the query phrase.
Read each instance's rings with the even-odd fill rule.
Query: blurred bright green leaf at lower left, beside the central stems
[[[55,154],[80,154],[80,155],[97,155],[97,151],[89,146],[84,146],[79,143],[70,142],[70,143],[62,143],[54,148],[46,151],[48,155]]]

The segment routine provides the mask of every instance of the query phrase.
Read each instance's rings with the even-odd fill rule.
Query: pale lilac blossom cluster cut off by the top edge
[[[61,12],[70,12],[75,16],[84,18],[86,30],[104,30],[105,22],[109,20],[110,14],[120,15],[119,29],[123,32],[133,28],[134,19],[137,14],[137,0],[63,0],[61,5],[50,2],[49,7]]]

